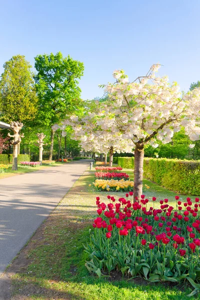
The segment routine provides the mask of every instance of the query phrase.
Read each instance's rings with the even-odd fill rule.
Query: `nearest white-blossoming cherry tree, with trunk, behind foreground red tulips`
[[[149,71],[129,81],[123,70],[115,70],[114,83],[103,85],[108,100],[100,103],[102,115],[96,122],[113,134],[120,133],[134,143],[134,197],[142,194],[144,147],[171,141],[173,133],[184,127],[192,141],[200,134],[200,88],[181,93],[176,82],[156,77],[160,67],[153,64]]]

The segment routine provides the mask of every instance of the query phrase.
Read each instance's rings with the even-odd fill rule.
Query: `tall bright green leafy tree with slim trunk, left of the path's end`
[[[82,62],[61,52],[35,57],[36,90],[39,98],[39,118],[51,127],[65,114],[78,109],[81,104],[78,80],[83,75]],[[51,129],[49,159],[52,159],[54,131]]]

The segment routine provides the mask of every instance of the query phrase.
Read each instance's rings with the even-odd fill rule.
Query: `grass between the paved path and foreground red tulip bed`
[[[132,173],[131,170],[127,170]],[[96,192],[88,184],[94,170],[87,170],[75,182],[47,221],[31,238],[24,255],[25,266],[12,277],[14,299],[84,299],[84,300],[183,300],[192,288],[167,283],[149,284],[137,277],[132,281],[110,281],[90,275],[84,267],[83,243],[89,240],[89,229],[95,214],[95,196],[107,201],[108,192]],[[144,180],[145,181],[145,180]],[[167,197],[174,204],[175,193],[149,181],[147,197]],[[110,193],[110,192],[109,192]],[[119,197],[119,192],[110,194]],[[191,297],[190,299],[195,299]]]

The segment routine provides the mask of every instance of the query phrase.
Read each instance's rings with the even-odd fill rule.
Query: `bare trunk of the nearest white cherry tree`
[[[143,144],[136,144],[134,149],[134,199],[141,199],[143,178]]]

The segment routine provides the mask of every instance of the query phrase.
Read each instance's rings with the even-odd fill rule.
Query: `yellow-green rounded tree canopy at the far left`
[[[37,97],[31,65],[25,56],[15,55],[3,64],[0,78],[0,112],[6,122],[24,125],[35,118]]]

